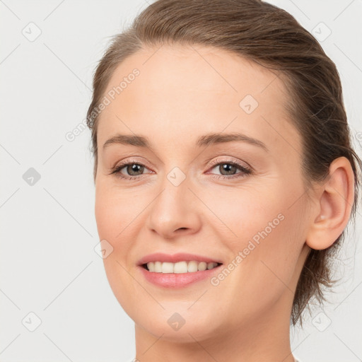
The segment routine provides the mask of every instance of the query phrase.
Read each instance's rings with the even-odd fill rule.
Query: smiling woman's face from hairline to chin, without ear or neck
[[[310,212],[280,78],[221,49],[163,46],[128,57],[105,96],[95,217],[136,327],[199,341],[288,322]]]

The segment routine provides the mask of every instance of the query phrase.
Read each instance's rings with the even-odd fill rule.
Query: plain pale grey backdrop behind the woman
[[[295,16],[337,64],[361,155],[362,1],[269,2]],[[94,250],[91,133],[66,135],[82,127],[109,37],[147,5],[0,0],[1,362],[134,357],[133,322]],[[339,255],[332,303],[291,331],[303,362],[361,361],[361,209],[356,221]]]

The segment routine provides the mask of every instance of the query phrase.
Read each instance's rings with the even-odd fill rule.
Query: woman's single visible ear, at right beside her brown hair
[[[327,249],[341,235],[354,203],[354,172],[346,157],[329,165],[329,177],[316,193],[314,221],[306,243],[315,250]]]

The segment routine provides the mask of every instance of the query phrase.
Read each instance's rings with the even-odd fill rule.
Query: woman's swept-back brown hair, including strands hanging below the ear
[[[268,69],[281,72],[291,101],[286,109],[303,143],[305,190],[329,175],[335,158],[348,158],[354,171],[355,218],[362,162],[351,146],[351,136],[334,62],[315,38],[291,14],[260,0],[158,0],[137,16],[126,31],[112,39],[93,78],[93,100],[87,112],[92,132],[94,180],[98,163],[97,124],[94,110],[104,96],[110,77],[127,57],[147,46],[164,44],[209,45],[225,49]],[[311,250],[301,271],[293,300],[291,323],[302,323],[310,298],[325,300],[330,287],[332,261],[344,232],[325,250]],[[309,307],[309,305],[308,305]]]

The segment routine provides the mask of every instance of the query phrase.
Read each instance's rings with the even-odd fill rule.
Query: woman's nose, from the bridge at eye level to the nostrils
[[[187,178],[174,185],[167,178],[149,206],[146,226],[163,239],[197,233],[201,227],[200,201],[191,190]]]

